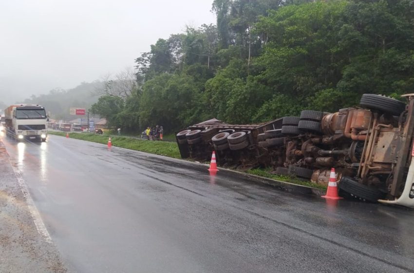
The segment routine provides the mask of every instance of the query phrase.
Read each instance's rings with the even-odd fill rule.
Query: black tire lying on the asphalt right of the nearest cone
[[[345,192],[352,196],[374,203],[377,202],[378,199],[382,199],[385,196],[385,194],[378,189],[358,183],[357,181],[347,176],[343,176],[339,180],[338,187],[340,195],[343,195],[342,192]]]

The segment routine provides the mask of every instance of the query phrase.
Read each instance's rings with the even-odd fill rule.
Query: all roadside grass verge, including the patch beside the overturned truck
[[[48,134],[56,135],[60,137],[65,137],[66,132],[56,132],[49,131]],[[137,139],[131,137],[118,137],[110,135],[95,135],[93,133],[69,133],[69,137],[97,142],[102,144],[108,143],[108,137],[111,137],[112,145],[116,147],[131,149],[135,151],[146,152],[150,154],[160,155],[160,156],[169,156],[173,158],[181,158],[180,151],[176,142],[168,141],[151,141],[146,139]],[[247,171],[248,174],[262,176],[266,178],[272,178],[283,182],[289,182],[293,184],[298,184],[302,186],[317,188],[321,190],[326,190],[326,186],[315,184],[309,181],[301,180],[293,176],[281,176],[273,175],[270,173],[271,169],[253,169]]]

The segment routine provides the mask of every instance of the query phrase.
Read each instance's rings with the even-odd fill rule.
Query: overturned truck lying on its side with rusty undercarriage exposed
[[[218,165],[240,171],[261,166],[327,185],[335,167],[340,195],[414,208],[414,94],[402,97],[408,104],[364,94],[356,108],[262,124],[210,119],[176,140],[183,158],[208,160],[215,151]]]

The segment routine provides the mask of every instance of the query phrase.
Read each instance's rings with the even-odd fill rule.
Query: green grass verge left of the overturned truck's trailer
[[[48,134],[65,137],[66,132],[49,131]],[[95,135],[93,133],[69,133],[69,137],[102,144],[108,143],[109,135]],[[177,143],[167,141],[150,141],[131,137],[111,136],[112,145],[116,147],[151,153],[160,156],[181,158]]]

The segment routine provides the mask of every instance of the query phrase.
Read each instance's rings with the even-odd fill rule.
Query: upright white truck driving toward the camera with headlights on
[[[4,110],[4,116],[7,136],[19,140],[46,141],[48,117],[43,106],[10,105]]]

